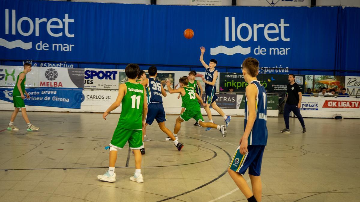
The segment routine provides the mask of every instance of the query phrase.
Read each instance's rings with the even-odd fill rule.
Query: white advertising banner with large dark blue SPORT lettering
[[[85,68],[84,73],[84,88],[119,89],[119,71],[116,69]]]

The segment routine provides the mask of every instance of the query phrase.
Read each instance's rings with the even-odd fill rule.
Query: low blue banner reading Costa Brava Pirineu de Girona
[[[26,88],[25,105],[80,109],[81,88]],[[13,88],[0,88],[0,100],[13,102]]]

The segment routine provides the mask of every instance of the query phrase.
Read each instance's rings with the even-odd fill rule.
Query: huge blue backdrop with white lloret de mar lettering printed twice
[[[357,13],[351,14],[353,10]],[[0,55],[67,65],[201,65],[199,47],[204,46],[206,63],[215,58],[219,66],[240,66],[245,58],[255,57],[260,66],[275,69],[342,69],[339,47],[346,52],[358,47],[347,46],[348,41],[340,46],[341,23],[349,26],[345,35],[356,36],[346,39],[359,44],[350,32],[359,31],[359,10],[3,0]],[[186,28],[194,31],[190,40],[183,36]],[[347,60],[358,65],[360,59]]]

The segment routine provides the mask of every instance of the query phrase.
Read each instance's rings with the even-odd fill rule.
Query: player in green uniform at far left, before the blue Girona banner
[[[15,110],[11,115],[8,127],[6,127],[6,129],[8,130],[19,130],[19,128],[14,125],[14,120],[20,109],[21,109],[21,114],[23,115],[23,118],[27,124],[27,130],[28,131],[39,130],[39,127],[36,127],[35,125],[32,125],[30,123],[29,118],[27,117],[26,114],[26,108],[24,103],[24,99],[25,99],[24,93],[28,99],[30,98],[29,94],[25,90],[26,74],[29,72],[31,72],[31,64],[25,63],[24,71],[20,72],[20,74],[18,75],[18,78],[16,79],[16,85],[13,90],[13,102],[14,102]]]

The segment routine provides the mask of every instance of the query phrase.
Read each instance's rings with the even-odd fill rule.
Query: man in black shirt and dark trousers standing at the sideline
[[[296,115],[297,119],[299,119],[302,126],[302,133],[306,133],[304,119],[300,114],[301,98],[301,89],[299,85],[295,83],[295,76],[294,74],[289,74],[287,100],[284,107],[284,120],[286,128],[280,130],[282,133],[290,133],[289,116],[291,111]]]

